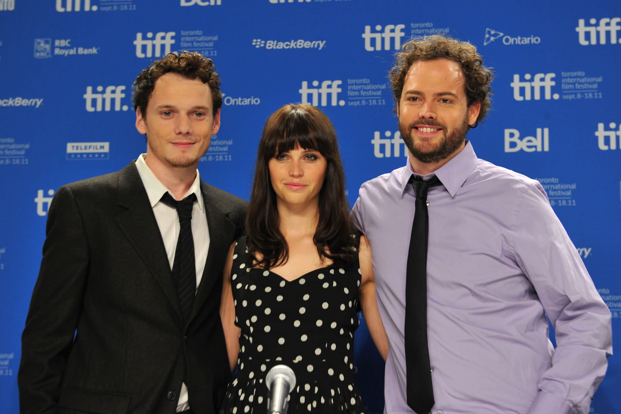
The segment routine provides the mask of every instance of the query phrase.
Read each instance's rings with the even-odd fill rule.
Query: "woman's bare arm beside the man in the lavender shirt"
[[[384,330],[384,324],[379,316],[378,300],[375,296],[375,278],[373,276],[373,256],[371,256],[371,246],[366,236],[360,236],[360,271],[362,272],[362,282],[360,283],[360,305],[362,313],[365,315],[365,322],[371,338],[384,361],[388,358],[388,336]]]

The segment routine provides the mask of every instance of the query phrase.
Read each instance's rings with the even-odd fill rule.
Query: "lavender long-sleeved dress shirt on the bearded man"
[[[384,387],[389,414],[413,413],[406,403],[404,354],[412,174],[408,160],[365,182],[351,212],[373,251],[390,343]],[[443,186],[430,188],[427,197],[432,413],[589,412],[612,354],[610,311],[545,190],[479,160],[468,141],[434,174]]]

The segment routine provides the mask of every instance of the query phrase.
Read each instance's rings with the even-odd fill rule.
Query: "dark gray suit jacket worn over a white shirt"
[[[217,413],[230,369],[222,269],[247,202],[201,181],[209,252],[188,323],[134,162],[61,187],[22,335],[22,413]]]

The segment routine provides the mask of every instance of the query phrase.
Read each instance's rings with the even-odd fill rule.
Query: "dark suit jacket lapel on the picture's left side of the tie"
[[[183,321],[168,255],[161,240],[160,228],[142,184],[134,161],[119,171],[118,204],[126,209],[115,217],[125,236],[158,282],[175,309],[179,321]],[[210,232],[211,236],[211,232]],[[210,243],[211,244],[211,243]],[[209,260],[209,259],[208,259]]]

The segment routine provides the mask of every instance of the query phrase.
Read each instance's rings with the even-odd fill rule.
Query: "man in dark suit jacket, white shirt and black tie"
[[[153,62],[134,84],[147,153],[58,190],[22,335],[22,413],[217,412],[222,269],[247,213],[197,171],[219,86],[198,53]]]

